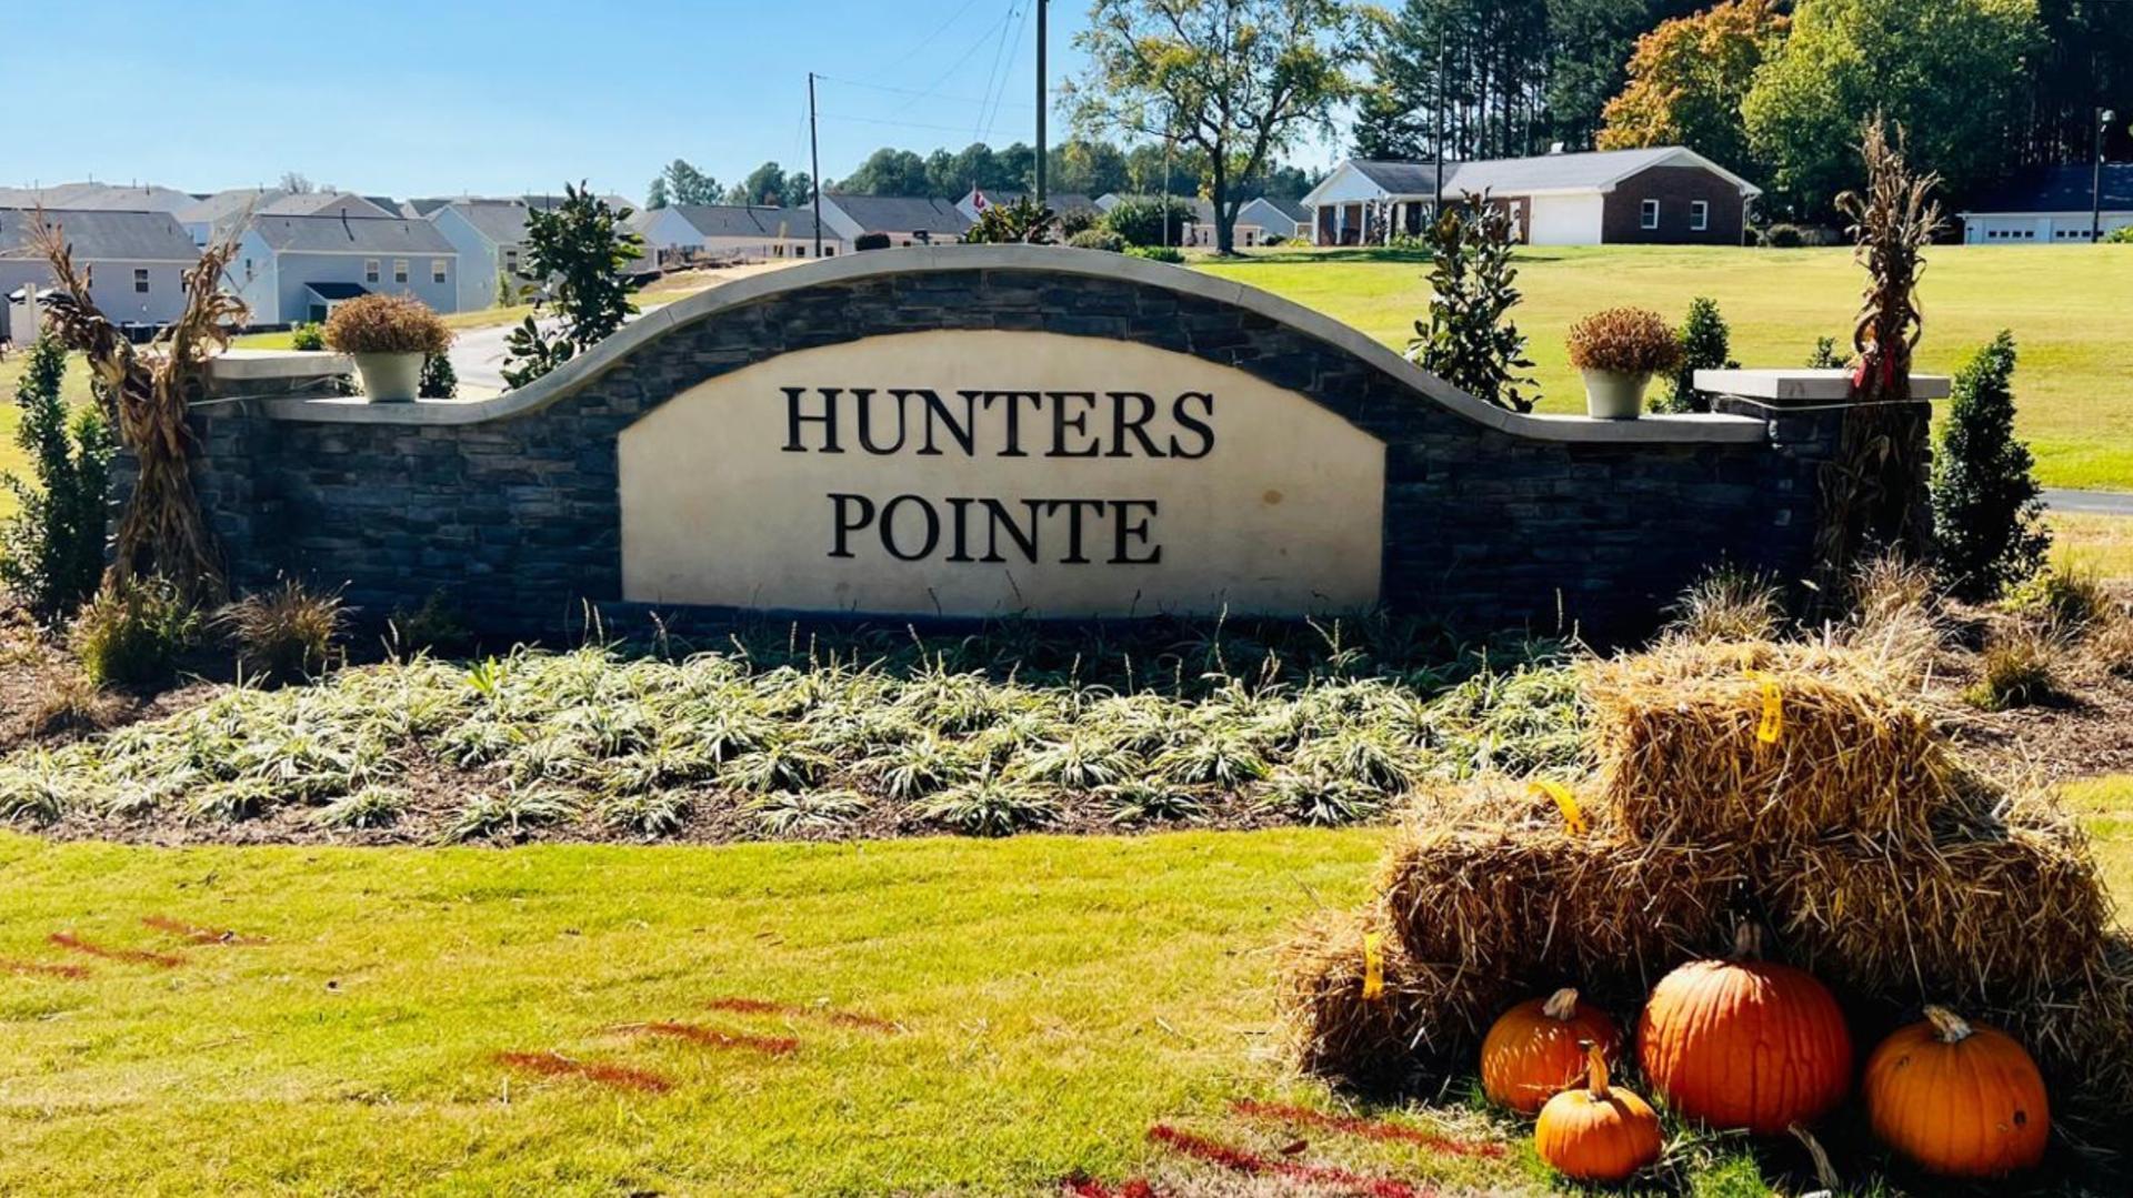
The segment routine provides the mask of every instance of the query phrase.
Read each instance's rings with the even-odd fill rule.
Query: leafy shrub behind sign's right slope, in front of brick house
[[[1510,411],[1531,411],[1534,369],[1510,320],[1523,298],[1512,266],[1510,213],[1478,200],[1429,226],[1429,320],[1414,322],[1408,358],[1455,388]]]

